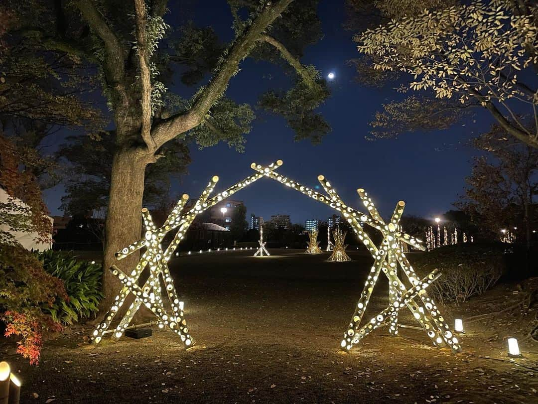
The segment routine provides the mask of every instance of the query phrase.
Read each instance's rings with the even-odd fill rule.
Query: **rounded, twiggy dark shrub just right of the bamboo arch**
[[[441,303],[459,304],[497,283],[506,271],[510,252],[501,243],[457,244],[421,254],[412,264],[421,277],[438,268],[442,275],[427,292]]]

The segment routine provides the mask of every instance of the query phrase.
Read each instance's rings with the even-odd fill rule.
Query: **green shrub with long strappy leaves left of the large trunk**
[[[56,299],[52,306],[44,307],[55,321],[73,324],[97,313],[103,271],[100,264],[77,259],[71,252],[46,251],[39,254],[46,272],[59,278],[67,293],[67,300]]]

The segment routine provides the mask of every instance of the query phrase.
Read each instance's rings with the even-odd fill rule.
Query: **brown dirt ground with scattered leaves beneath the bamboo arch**
[[[464,319],[458,355],[434,348],[422,331],[403,328],[398,337],[376,330],[344,353],[339,342],[371,257],[351,253],[349,263],[329,263],[327,253],[270,252],[267,258],[249,251],[171,261],[196,341],[192,350],[155,327],[150,338],[84,345],[89,325],[47,343],[37,367],[0,346],[20,372],[22,402],[538,402],[537,346],[527,339],[520,344],[524,358],[510,360],[505,341],[523,332],[535,313],[465,323],[518,299],[514,285],[442,307],[450,324],[455,316]],[[379,280],[366,316],[387,305],[386,283]],[[400,321],[415,324],[407,314]]]

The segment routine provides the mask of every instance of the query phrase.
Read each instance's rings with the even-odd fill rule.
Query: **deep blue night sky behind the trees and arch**
[[[167,22],[175,25],[193,19],[202,26],[212,25],[222,40],[233,36],[232,17],[225,1],[202,8],[202,2],[183,0],[179,6],[171,2]],[[181,14],[180,14],[181,13]],[[183,13],[189,15],[183,17]],[[194,16],[193,16],[194,13]],[[187,193],[197,197],[213,175],[220,177],[217,189],[227,188],[251,174],[250,164],[269,164],[281,159],[281,174],[310,187],[318,185],[317,175],[329,179],[344,201],[360,208],[356,188],[364,188],[383,215],[390,215],[399,200],[406,201],[406,213],[433,217],[452,209],[457,195],[463,193],[464,178],[470,174],[470,160],[477,151],[466,146],[469,139],[491,124],[485,112],[476,117],[479,124],[467,122],[446,131],[403,133],[398,139],[369,141],[369,122],[381,104],[398,97],[396,91],[360,87],[353,81],[355,71],[346,60],[357,57],[351,40],[344,31],[344,1],[321,0],[319,15],[324,38],[306,49],[302,62],[316,65],[323,75],[334,72],[332,95],[320,111],[332,127],[320,145],[308,140],[295,143],[293,132],[281,117],[256,111],[258,119],[247,135],[246,151],[238,153],[226,144],[198,150],[191,145],[193,163],[189,175],[174,183],[172,195]],[[289,77],[270,63],[246,59],[241,72],[234,77],[226,95],[234,101],[255,104],[259,94],[268,88],[287,88]],[[271,78],[270,78],[271,77]],[[179,83],[179,80],[176,81]],[[176,93],[189,98],[192,88],[178,85]],[[53,215],[58,210],[62,187],[45,193],[45,201]],[[324,219],[333,211],[325,205],[282,186],[270,179],[260,179],[234,195],[244,201],[247,217],[251,213],[270,219],[271,215],[289,214],[293,223],[306,219]]]

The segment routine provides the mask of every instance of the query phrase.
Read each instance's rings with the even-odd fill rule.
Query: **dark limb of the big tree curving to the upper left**
[[[112,88],[118,89],[119,86],[123,90],[122,80],[125,75],[125,67],[123,49],[118,38],[112,32],[92,0],[75,0],[74,3],[88,21],[91,29],[104,42],[107,53],[104,58],[104,69],[108,84]]]

